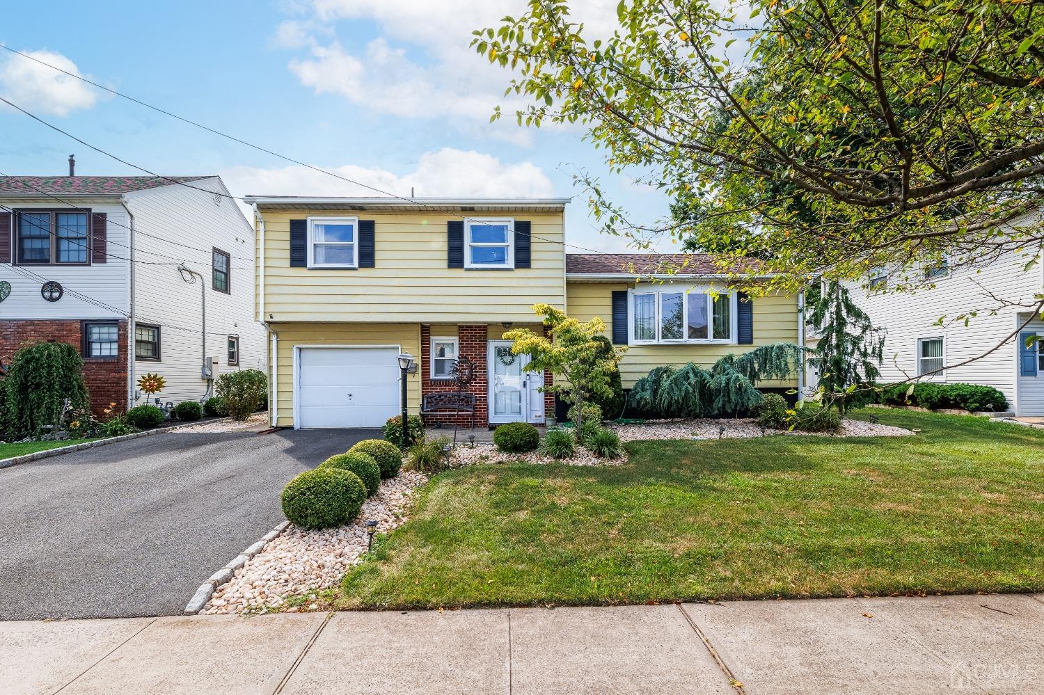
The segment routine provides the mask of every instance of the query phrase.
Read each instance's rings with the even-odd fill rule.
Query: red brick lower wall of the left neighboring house
[[[127,407],[126,320],[119,321],[119,327],[118,357],[84,360],[84,382],[95,415],[113,402],[121,412]],[[82,325],[78,320],[0,320],[0,357],[4,362],[22,345],[41,340],[67,342],[82,354]]]

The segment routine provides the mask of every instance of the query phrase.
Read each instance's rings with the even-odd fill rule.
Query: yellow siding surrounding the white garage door
[[[455,328],[455,327],[454,327]],[[420,323],[277,323],[279,336],[277,382],[279,384],[280,427],[293,427],[293,348],[294,345],[400,345],[414,359],[421,359]],[[421,373],[408,377],[407,407],[421,410]]]

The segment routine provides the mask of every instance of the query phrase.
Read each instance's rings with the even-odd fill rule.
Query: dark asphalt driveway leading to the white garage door
[[[0,620],[181,614],[290,478],[369,437],[168,432],[0,469]]]

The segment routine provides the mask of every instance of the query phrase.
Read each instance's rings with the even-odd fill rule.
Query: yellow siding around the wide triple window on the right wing
[[[631,287],[634,284],[570,281],[566,288],[569,315],[580,321],[600,316],[606,321],[606,337],[612,338],[612,292]],[[620,362],[620,376],[624,388],[631,388],[657,366],[681,365],[686,362],[710,366],[726,355],[739,355],[758,345],[774,342],[798,342],[798,301],[793,295],[773,294],[754,299],[753,345],[631,345]],[[758,385],[780,387],[796,386],[797,383],[794,378],[786,382],[764,381]]]

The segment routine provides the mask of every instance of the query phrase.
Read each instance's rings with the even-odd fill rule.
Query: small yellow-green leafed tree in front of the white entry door
[[[606,352],[598,340],[606,330],[606,321],[597,316],[582,323],[564,311],[547,304],[535,304],[535,313],[544,317],[550,336],[533,333],[529,329],[514,329],[504,333],[512,340],[512,353],[528,355],[526,372],[550,372],[554,385],[541,386],[541,391],[557,393],[563,401],[575,406],[576,431],[584,426],[583,410],[587,398],[613,397],[613,374],[623,354],[622,348]]]

